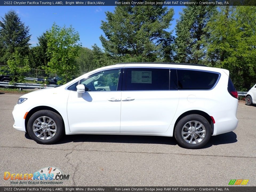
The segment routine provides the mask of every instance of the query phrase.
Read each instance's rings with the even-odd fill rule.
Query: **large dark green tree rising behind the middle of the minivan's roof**
[[[123,62],[164,59],[173,14],[173,8],[164,6],[116,6],[114,13],[107,11],[107,21],[101,24],[106,38],[100,37],[105,52]]]

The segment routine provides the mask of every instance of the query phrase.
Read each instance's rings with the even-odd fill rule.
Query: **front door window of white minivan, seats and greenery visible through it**
[[[116,91],[120,69],[101,71],[81,79],[79,84],[83,84],[88,91]]]

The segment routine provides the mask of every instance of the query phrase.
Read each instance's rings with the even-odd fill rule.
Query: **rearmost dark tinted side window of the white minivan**
[[[177,69],[180,90],[207,90],[213,88],[219,74],[208,71]]]

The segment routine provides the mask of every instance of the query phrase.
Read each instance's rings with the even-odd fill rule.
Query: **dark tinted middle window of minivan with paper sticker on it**
[[[169,90],[169,69],[127,68],[123,90]]]

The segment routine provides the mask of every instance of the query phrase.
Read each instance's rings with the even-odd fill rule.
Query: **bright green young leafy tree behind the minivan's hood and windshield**
[[[76,58],[81,45],[78,43],[79,34],[72,28],[60,28],[55,23],[46,33],[47,56],[50,57],[45,69],[57,73],[61,78],[58,84],[70,81],[77,75],[79,67]]]

